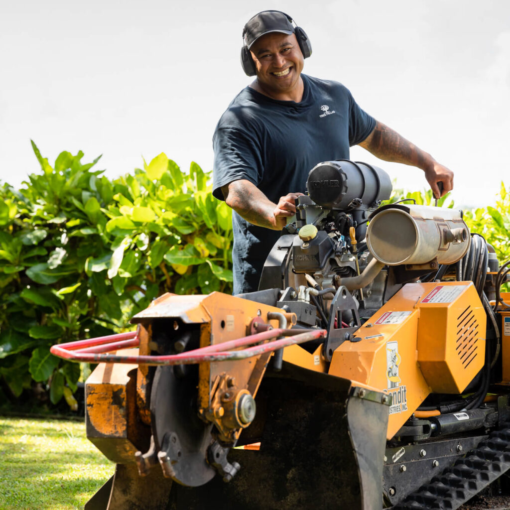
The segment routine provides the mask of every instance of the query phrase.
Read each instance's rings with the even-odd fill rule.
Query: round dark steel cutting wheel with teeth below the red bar
[[[197,366],[188,366],[179,378],[174,367],[161,366],[156,369],[150,394],[156,448],[167,453],[172,479],[188,487],[207,483],[216,474],[206,460],[213,425],[197,415],[197,381]]]

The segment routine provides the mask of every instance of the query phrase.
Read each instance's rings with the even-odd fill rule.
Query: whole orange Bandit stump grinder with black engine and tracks
[[[86,510],[457,508],[507,476],[510,262],[462,211],[379,207],[380,168],[307,188],[257,292],[52,348],[98,363],[87,436],[116,469]]]

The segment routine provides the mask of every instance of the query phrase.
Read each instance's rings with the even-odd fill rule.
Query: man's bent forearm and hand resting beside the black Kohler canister
[[[253,225],[282,230],[287,218],[296,213],[295,200],[302,193],[288,193],[274,203],[252,182],[232,181],[221,187],[226,205]]]

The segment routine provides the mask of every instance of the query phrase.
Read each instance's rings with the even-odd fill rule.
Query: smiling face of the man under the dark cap
[[[270,94],[291,93],[300,83],[303,54],[295,34],[271,32],[250,48],[260,86]]]

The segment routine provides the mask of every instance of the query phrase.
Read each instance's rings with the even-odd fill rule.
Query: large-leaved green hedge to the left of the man
[[[231,211],[210,174],[164,154],[109,180],[62,152],[0,188],[0,374],[8,393],[49,384],[72,402],[80,365],[54,343],[111,334],[164,292],[232,292]]]

